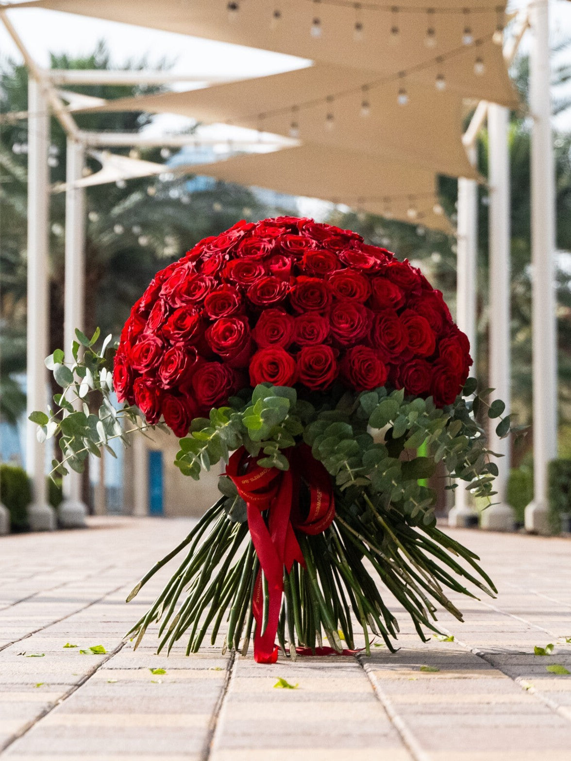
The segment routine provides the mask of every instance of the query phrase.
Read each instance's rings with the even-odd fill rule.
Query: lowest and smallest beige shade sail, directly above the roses
[[[236,156],[215,164],[177,167],[175,171],[323,199],[356,211],[453,232],[448,218],[434,211],[442,212],[434,173],[358,151],[307,144]]]

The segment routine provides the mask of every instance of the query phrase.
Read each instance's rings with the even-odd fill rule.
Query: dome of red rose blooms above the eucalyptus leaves
[[[178,436],[243,387],[384,384],[454,402],[472,364],[440,291],[388,250],[280,217],[201,240],[155,276],[121,334],[120,401]]]

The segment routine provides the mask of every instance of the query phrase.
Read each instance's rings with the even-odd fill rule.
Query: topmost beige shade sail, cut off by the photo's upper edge
[[[448,88],[465,97],[509,107],[518,103],[502,46],[492,42],[496,33],[501,43],[497,31],[505,21],[505,4],[498,0],[465,0],[458,5],[454,0],[403,0],[397,6],[349,0],[241,0],[234,3],[239,10],[230,14],[233,20],[227,0],[40,0],[26,7],[30,5],[384,75],[404,72],[410,81],[433,84],[441,73]],[[394,7],[398,11],[391,11]],[[273,17],[276,8],[278,20]],[[356,24],[361,24],[360,32]],[[478,61],[481,75],[474,73]]]

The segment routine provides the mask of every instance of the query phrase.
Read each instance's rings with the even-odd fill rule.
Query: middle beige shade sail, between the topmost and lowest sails
[[[477,177],[461,142],[458,95],[410,83],[400,105],[400,81],[377,83],[374,72],[317,64],[203,90],[110,100],[89,110],[177,113]]]

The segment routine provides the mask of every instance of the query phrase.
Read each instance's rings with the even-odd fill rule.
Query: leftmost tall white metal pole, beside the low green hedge
[[[47,377],[43,364],[47,354],[48,326],[48,222],[49,222],[49,114],[41,85],[28,79],[27,158],[27,415],[46,409]],[[46,450],[37,441],[37,426],[27,422],[26,467],[32,481],[32,504],[28,508],[33,530],[56,527],[53,508],[46,500]]]

